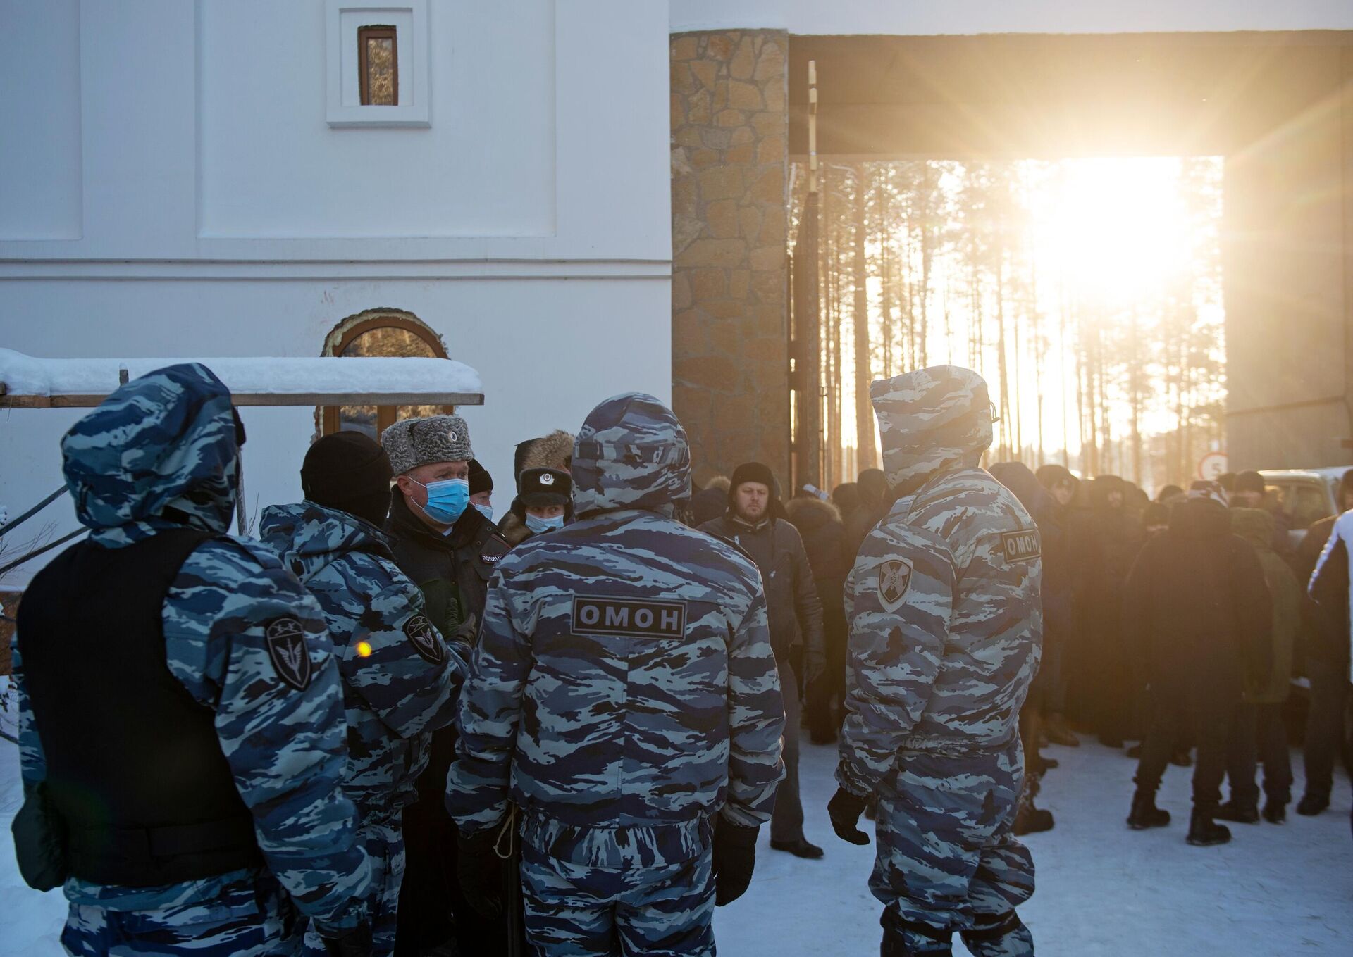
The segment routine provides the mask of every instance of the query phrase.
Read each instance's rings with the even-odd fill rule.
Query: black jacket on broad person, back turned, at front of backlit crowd
[[[1188,499],[1170,510],[1128,574],[1123,629],[1143,649],[1153,691],[1226,707],[1272,666],[1273,607],[1254,549],[1231,534],[1224,506]]]

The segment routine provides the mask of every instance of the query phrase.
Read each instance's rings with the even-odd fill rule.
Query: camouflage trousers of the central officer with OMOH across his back
[[[522,846],[526,941],[536,957],[713,957],[710,852],[655,866],[598,868]]]

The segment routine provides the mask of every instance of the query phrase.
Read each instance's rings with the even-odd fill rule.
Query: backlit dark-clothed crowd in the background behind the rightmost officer
[[[1080,746],[1078,734],[1139,760],[1134,829],[1169,823],[1154,803],[1161,776],[1195,761],[1191,843],[1230,839],[1216,820],[1283,823],[1293,735],[1304,741],[1306,779],[1296,812],[1325,811],[1335,760],[1353,768],[1345,550],[1331,549],[1316,576],[1338,515],[1293,534],[1277,489],[1253,470],[1188,491],[1166,485],[1154,500],[1118,476],[1081,481],[1061,465],[989,470],[1042,534],[1043,657],[1020,714],[1028,773],[1016,833],[1054,826],[1034,803],[1058,765],[1040,749]],[[879,488],[884,473],[867,469],[829,495],[805,485],[787,503],[824,608],[836,606],[840,569],[879,520]],[[1353,470],[1335,499],[1339,514],[1353,510]],[[833,741],[843,718],[844,619],[824,638],[828,669],[806,689],[815,743]],[[1306,708],[1289,702],[1302,677]]]

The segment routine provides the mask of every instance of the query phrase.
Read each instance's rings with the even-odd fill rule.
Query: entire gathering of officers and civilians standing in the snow
[[[16,856],[64,885],[66,949],[713,954],[762,823],[773,850],[827,853],[802,727],[839,739],[836,834],[877,822],[885,957],[953,933],[1031,956],[1039,749],[1142,742],[1134,829],[1169,823],[1155,788],[1196,749],[1188,841],[1219,843],[1218,819],[1284,819],[1295,661],[1298,811],[1329,804],[1353,526],[1289,550],[1257,473],[1153,503],[988,472],[966,369],[871,399],[886,470],[785,500],[760,462],[693,493],[675,415],[616,396],[517,446],[497,522],[460,416],[337,433],[256,541],[225,534],[246,437],[219,380],[119,388],[62,439],[91,534],[15,638]]]

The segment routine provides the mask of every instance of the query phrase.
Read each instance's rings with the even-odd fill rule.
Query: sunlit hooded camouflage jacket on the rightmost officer
[[[1009,743],[1043,634],[1038,529],[976,468],[990,443],[985,383],[940,366],[873,392],[889,480],[907,493],[865,539],[846,583],[838,780],[855,793],[901,750]]]

